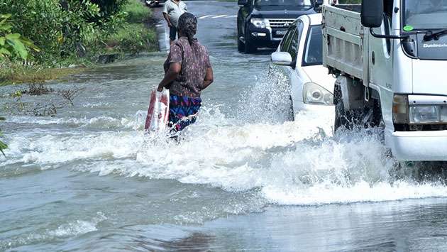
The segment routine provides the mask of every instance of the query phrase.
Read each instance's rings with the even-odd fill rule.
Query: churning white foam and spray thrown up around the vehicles
[[[248,108],[241,109],[236,118],[221,114],[219,104],[205,104],[197,124],[182,132],[180,143],[163,134],[146,136],[142,130],[144,112],[138,111],[125,123],[134,126],[123,131],[114,128],[70,136],[46,135],[33,141],[13,139],[11,153],[16,154],[11,159],[42,168],[77,161],[75,170],[99,175],[172,179],[229,192],[254,190],[270,204],[447,197],[442,181],[394,176],[395,160],[388,157],[380,133],[363,130],[334,137],[333,114],[300,114],[294,122],[275,124],[287,117],[287,103],[261,94],[276,89],[283,92],[285,87],[263,80],[260,85],[248,94],[253,94],[251,100],[260,97],[261,102],[246,104]],[[284,99],[287,97],[280,100]],[[283,109],[275,111],[275,106],[264,103]],[[276,114],[266,123],[263,113]],[[83,124],[95,124],[96,120],[99,126],[109,121],[88,119]]]

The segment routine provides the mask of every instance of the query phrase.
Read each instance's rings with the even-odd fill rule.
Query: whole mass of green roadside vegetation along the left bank
[[[89,65],[98,54],[110,51],[156,50],[154,29],[143,26],[150,20],[151,11],[139,0],[0,0],[0,13],[12,13],[6,28],[23,35],[20,43],[9,40],[17,53],[6,61],[0,58],[3,68],[21,64],[23,56],[28,56],[37,68],[45,69]],[[138,23],[136,30],[132,30],[134,23]],[[23,50],[22,44],[28,50]],[[11,51],[6,50],[0,53],[9,55]],[[0,83],[11,81],[11,77],[17,79],[16,70],[2,67]]]

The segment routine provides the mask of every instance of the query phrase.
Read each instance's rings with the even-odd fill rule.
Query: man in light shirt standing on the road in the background
[[[169,38],[172,43],[177,37],[177,26],[179,18],[183,13],[187,12],[187,5],[182,0],[167,0],[163,9],[163,16],[169,26]]]

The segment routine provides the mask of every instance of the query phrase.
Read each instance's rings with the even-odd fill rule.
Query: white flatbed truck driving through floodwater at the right
[[[381,126],[398,160],[447,160],[447,0],[323,6],[336,125]]]

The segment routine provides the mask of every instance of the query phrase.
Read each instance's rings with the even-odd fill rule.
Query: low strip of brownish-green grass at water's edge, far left
[[[0,86],[56,80],[84,71],[83,68],[43,68],[11,63],[0,68]]]

